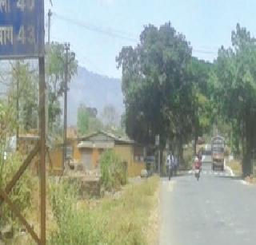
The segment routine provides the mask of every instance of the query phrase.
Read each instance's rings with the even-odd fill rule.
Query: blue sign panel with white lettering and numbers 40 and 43
[[[0,59],[44,55],[43,0],[0,0]]]

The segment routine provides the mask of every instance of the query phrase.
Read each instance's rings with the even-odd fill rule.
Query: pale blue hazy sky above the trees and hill
[[[220,45],[230,45],[236,23],[256,35],[254,0],[45,0],[51,8],[52,41],[69,41],[79,64],[121,77],[115,57],[136,45],[143,26],[171,22],[186,35],[194,56],[213,61]],[[47,23],[47,18],[46,18]]]

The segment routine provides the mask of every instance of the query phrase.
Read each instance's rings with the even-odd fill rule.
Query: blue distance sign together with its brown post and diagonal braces
[[[36,243],[46,244],[46,79],[45,79],[45,33],[44,0],[1,0],[0,1],[0,59],[38,58],[39,65],[39,128],[40,142],[18,172],[14,174],[6,188],[0,187],[0,205],[2,201],[26,227]],[[25,172],[31,160],[40,153],[40,239],[23,217],[8,194]]]

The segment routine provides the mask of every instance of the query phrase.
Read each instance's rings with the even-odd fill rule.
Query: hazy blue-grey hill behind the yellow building
[[[105,105],[114,105],[118,114],[124,112],[121,80],[92,73],[78,67],[78,75],[69,84],[68,124],[75,125],[80,103],[98,109],[102,113]]]

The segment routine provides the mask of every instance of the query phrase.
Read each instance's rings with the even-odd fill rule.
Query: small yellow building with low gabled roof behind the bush
[[[142,145],[134,140],[99,131],[79,139],[78,156],[83,170],[100,168],[100,156],[106,149],[113,149],[120,160],[126,162],[128,176],[139,176],[142,169],[146,168],[145,149]]]

